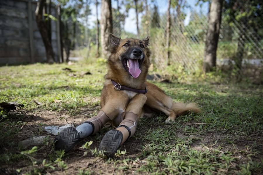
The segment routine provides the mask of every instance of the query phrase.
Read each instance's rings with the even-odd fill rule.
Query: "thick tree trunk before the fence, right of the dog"
[[[210,72],[216,67],[217,44],[222,16],[223,0],[212,0],[209,14],[208,30],[205,41],[203,71]]]

